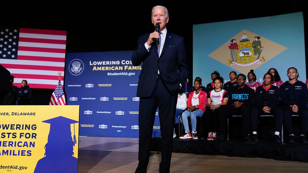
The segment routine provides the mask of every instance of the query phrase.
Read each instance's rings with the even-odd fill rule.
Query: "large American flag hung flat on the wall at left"
[[[64,74],[65,48],[66,31],[0,27],[0,64],[15,86],[25,79],[31,88],[54,89],[58,72]]]

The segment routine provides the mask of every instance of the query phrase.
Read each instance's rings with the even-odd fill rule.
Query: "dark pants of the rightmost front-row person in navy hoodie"
[[[288,106],[282,107],[283,111],[283,124],[287,128],[287,132],[289,135],[293,134],[293,126],[292,126],[292,115],[299,115],[301,119],[301,131],[300,135],[306,135],[308,130],[308,110],[307,107],[298,107],[297,112],[293,112],[292,109]]]

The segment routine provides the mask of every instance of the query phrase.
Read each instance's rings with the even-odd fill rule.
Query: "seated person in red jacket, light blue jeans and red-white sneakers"
[[[191,92],[187,100],[187,110],[182,114],[182,121],[185,128],[185,134],[180,137],[180,139],[198,139],[196,126],[197,126],[197,116],[204,113],[206,107],[206,92],[202,91],[200,87],[202,83],[199,79],[194,82],[195,91]],[[188,119],[190,116],[192,124],[192,133],[189,131]]]

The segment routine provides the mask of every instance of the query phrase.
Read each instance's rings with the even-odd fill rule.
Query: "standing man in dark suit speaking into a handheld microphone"
[[[161,132],[160,173],[170,171],[173,125],[177,93],[188,76],[183,37],[167,32],[168,10],[164,6],[152,9],[152,23],[160,24],[160,33],[152,32],[139,37],[132,55],[132,64],[143,62],[139,75],[137,97],[139,103],[139,164],[136,173],[147,170],[150,156],[155,112],[158,107]],[[156,39],[159,44],[156,45]]]

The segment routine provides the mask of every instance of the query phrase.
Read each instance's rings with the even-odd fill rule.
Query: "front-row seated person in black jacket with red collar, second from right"
[[[264,84],[256,89],[256,107],[253,107],[250,114],[252,142],[259,142],[257,135],[257,123],[260,115],[275,115],[276,143],[282,143],[279,134],[282,127],[282,109],[279,107],[279,88],[272,85],[273,75],[266,73],[263,77]]]

